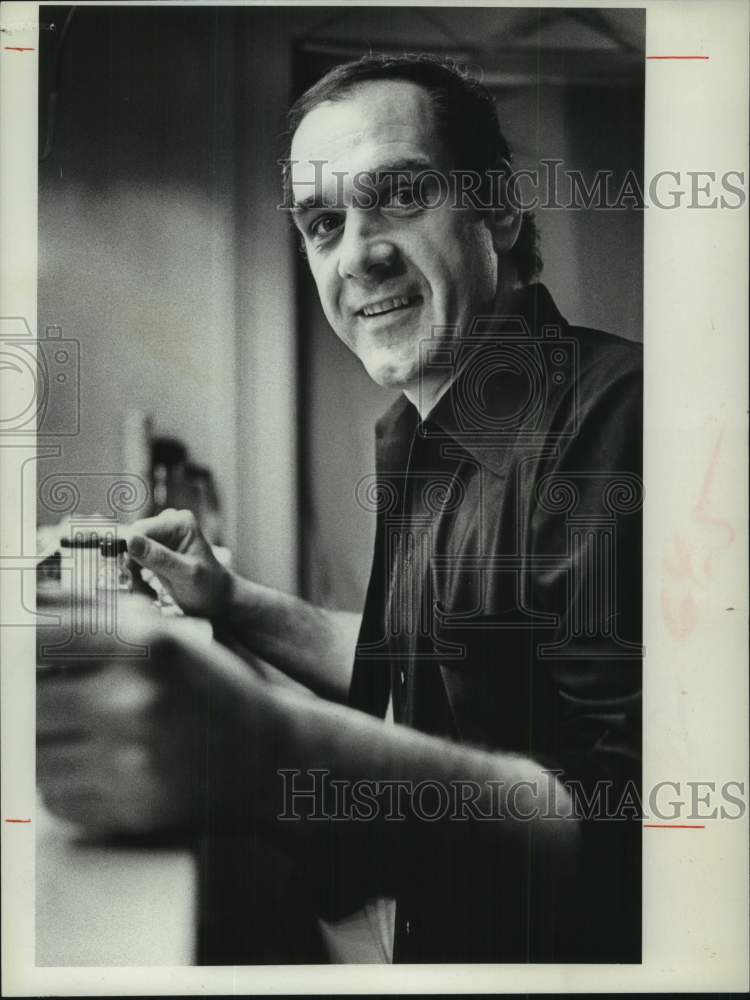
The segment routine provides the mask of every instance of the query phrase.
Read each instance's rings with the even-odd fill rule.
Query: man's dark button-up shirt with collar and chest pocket
[[[542,285],[513,309],[425,345],[449,390],[377,425],[350,701],[382,717],[392,696],[397,722],[614,808],[640,788],[641,349],[569,326]],[[583,822],[574,872],[531,832],[512,858],[474,851],[470,825],[429,857],[406,838],[394,960],[639,961],[633,813]]]

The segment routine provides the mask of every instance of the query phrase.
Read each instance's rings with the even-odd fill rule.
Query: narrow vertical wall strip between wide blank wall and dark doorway
[[[238,566],[254,579],[296,591],[296,282],[288,215],[277,209],[277,160],[291,86],[289,30],[283,11],[255,10],[238,34],[235,419]]]

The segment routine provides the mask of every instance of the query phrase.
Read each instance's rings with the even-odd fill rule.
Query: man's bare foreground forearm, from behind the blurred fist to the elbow
[[[235,794],[244,786],[246,814],[314,886],[330,880],[333,860],[342,878],[354,879],[352,902],[361,902],[394,891],[414,858],[429,869],[451,842],[511,867],[523,863],[529,835],[563,867],[575,853],[570,796],[533,760],[269,689],[250,715],[258,752],[248,755]],[[361,795],[356,805],[363,791],[364,812]],[[437,821],[429,818],[435,810]]]

